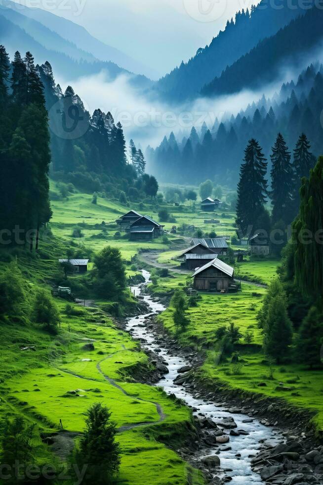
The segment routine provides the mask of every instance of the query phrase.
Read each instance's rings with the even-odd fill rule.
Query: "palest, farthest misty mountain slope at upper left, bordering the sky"
[[[3,0],[0,0],[0,4],[1,2],[3,2]],[[135,60],[121,50],[108,46],[98,39],[95,39],[95,37],[91,36],[86,29],[70,20],[40,8],[29,8],[9,0],[6,0],[4,5],[6,10],[18,14],[18,16],[9,16],[9,13],[7,13],[5,16],[22,27],[29,35],[34,37],[48,49],[53,48],[52,41],[55,38],[56,33],[60,40],[54,50],[65,52],[76,59],[83,58],[84,60],[86,59],[89,61],[97,59],[104,62],[113,62],[121,68],[135,74],[144,74],[148,77],[153,74],[153,71],[139,60]],[[3,12],[2,15],[4,15]],[[24,17],[25,20],[23,21],[19,17]],[[33,20],[36,21],[38,25],[37,23],[34,23]],[[38,33],[41,32],[39,24],[47,28],[46,31],[44,31],[42,40],[40,40],[38,35]],[[62,40],[67,42],[63,44]],[[74,47],[77,46],[76,51],[72,50],[70,52],[71,44],[73,44]],[[67,47],[68,50],[64,50],[64,46]]]

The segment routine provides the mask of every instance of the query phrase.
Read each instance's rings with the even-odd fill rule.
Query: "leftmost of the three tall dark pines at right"
[[[242,233],[252,228],[264,211],[267,162],[259,143],[252,139],[244,150],[238,184],[237,225]]]

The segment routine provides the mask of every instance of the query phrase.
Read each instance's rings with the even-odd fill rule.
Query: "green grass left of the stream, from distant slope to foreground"
[[[73,194],[68,200],[53,201],[52,207],[50,229],[41,234],[37,254],[21,248],[0,251],[0,274],[8,264],[15,264],[26,291],[19,318],[3,315],[0,319],[0,335],[5,341],[0,418],[21,415],[27,422],[36,423],[33,443],[38,464],[59,463],[40,434],[58,431],[60,419],[65,432],[82,432],[86,410],[95,402],[103,402],[119,428],[121,481],[184,484],[190,475],[194,484],[202,483],[200,475],[169,447],[180,446],[194,432],[191,411],[162,389],[136,383],[132,376],[145,374],[151,365],[138,343],[120,331],[111,317],[99,308],[72,304],[71,309],[66,301],[56,299],[61,320],[58,334],[50,335],[33,323],[34,295],[41,288],[49,290],[53,281],[62,277],[58,258],[65,257],[69,247],[82,254],[88,252],[93,258],[96,251],[111,244],[121,247],[127,261],[143,247],[115,239],[115,227],[108,227],[102,240],[91,238],[100,233],[96,224],[103,220],[108,224],[126,211],[120,204],[99,199],[94,205],[91,196]],[[82,227],[84,237],[72,238],[73,227],[84,220],[89,221]],[[161,242],[156,246],[164,247]],[[128,276],[137,273],[127,266]],[[70,280],[75,280],[77,287],[82,278]],[[131,304],[130,293],[128,300]],[[92,351],[84,348],[89,342],[94,344]]]

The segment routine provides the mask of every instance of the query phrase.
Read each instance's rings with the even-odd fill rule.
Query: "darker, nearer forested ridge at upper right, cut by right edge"
[[[203,96],[232,94],[274,82],[323,42],[323,10],[312,8],[250,52],[202,89]]]

